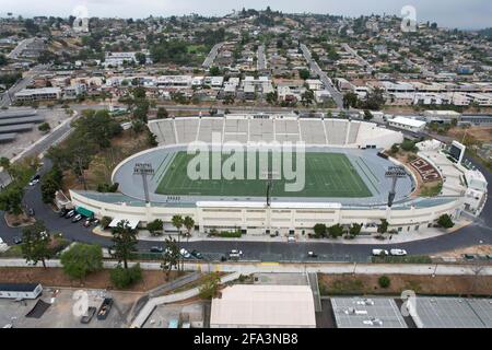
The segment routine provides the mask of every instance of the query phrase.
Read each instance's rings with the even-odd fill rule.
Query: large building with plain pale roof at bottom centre
[[[309,285],[236,284],[212,300],[210,328],[316,328]]]

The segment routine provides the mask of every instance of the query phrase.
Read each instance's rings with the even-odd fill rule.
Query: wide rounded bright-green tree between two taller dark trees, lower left
[[[89,273],[103,268],[103,249],[99,245],[78,243],[61,255],[63,272],[82,282]]]

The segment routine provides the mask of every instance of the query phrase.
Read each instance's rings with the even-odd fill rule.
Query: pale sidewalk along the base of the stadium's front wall
[[[412,232],[401,232],[399,234],[390,234],[386,233],[385,241],[380,241],[375,238],[375,234],[372,236],[364,236],[361,235],[356,237],[355,240],[330,240],[330,238],[324,238],[324,240],[315,240],[315,238],[308,238],[307,235],[296,235],[297,243],[338,243],[338,244],[352,244],[352,245],[371,245],[371,244],[377,244],[377,245],[390,245],[390,244],[398,244],[398,243],[408,243],[408,242],[414,242],[414,241],[422,241],[422,240],[429,240],[438,237],[445,234],[452,234],[453,232],[456,232],[458,230],[461,230],[465,226],[468,226],[471,224],[471,221],[468,220],[461,220],[456,223],[456,225],[450,230],[443,230],[443,229],[424,229],[419,232],[412,231]],[[112,234],[109,231],[102,231],[99,228],[96,228],[93,230],[93,233],[96,235],[105,236],[105,237],[112,237]],[[148,241],[148,242],[164,242],[166,238],[169,237],[169,235],[177,240],[177,233],[166,233],[161,236],[153,236],[150,234],[147,230],[139,231],[139,234],[137,238],[139,241]],[[241,238],[219,238],[219,237],[209,237],[207,234],[203,233],[194,233],[189,238],[181,236],[181,242],[271,242],[271,243],[286,243],[288,238],[286,236],[278,236],[278,237],[270,237],[268,235],[243,235]]]

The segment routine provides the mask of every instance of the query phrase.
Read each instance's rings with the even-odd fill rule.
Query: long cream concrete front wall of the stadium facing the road
[[[270,208],[223,208],[220,202],[207,207],[132,207],[120,203],[107,203],[84,197],[71,191],[72,202],[75,206],[84,207],[94,211],[97,218],[110,217],[121,219],[139,220],[142,223],[161,219],[171,224],[175,214],[190,215],[194,218],[200,232],[207,230],[234,230],[247,229],[248,234],[263,234],[265,228],[278,230],[280,234],[286,234],[290,230],[296,233],[304,231],[313,233],[313,228],[317,223],[327,225],[335,224],[377,224],[382,219],[388,220],[390,229],[401,228],[402,231],[414,231],[417,226],[424,228],[436,221],[442,214],[447,213],[454,218],[459,214],[461,201],[456,199],[445,205],[431,208],[394,209],[350,209],[350,208],[296,208],[282,209]]]

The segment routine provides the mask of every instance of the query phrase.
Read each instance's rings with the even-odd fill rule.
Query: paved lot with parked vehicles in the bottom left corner
[[[89,324],[82,324],[81,316],[75,316],[73,306],[73,289],[51,290],[45,288],[38,299],[49,304],[40,318],[28,318],[27,313],[33,310],[38,300],[14,301],[0,300],[0,328],[11,324],[14,328],[122,328],[128,327],[128,314],[140,293],[112,292],[102,290],[86,290],[89,306],[97,307],[105,296],[114,299],[114,304],[105,320],[94,316]]]

